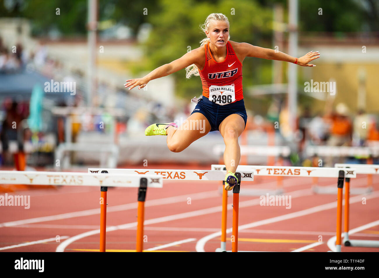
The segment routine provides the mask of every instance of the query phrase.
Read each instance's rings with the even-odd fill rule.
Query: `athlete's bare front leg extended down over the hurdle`
[[[244,128],[245,122],[238,114],[227,116],[219,126],[225,142],[224,163],[226,170],[232,173],[235,173],[238,163],[240,163],[241,150],[238,144],[238,137],[242,134]]]

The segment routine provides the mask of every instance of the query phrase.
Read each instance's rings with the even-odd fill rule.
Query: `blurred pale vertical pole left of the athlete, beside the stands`
[[[93,106],[96,97],[96,30],[97,0],[88,0],[88,67],[87,67],[87,106]]]

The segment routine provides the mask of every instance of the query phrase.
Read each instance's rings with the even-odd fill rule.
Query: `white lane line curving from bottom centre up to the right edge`
[[[375,192],[372,192],[370,195],[368,195],[366,197],[366,199],[376,198],[378,196],[379,196],[379,191],[375,191]],[[352,197],[352,198],[350,198],[350,200],[351,200],[351,203],[360,202],[360,201],[362,201],[362,195]],[[260,220],[260,221],[252,222],[249,224],[241,225],[241,226],[238,226],[238,230],[243,230],[243,229],[247,229],[247,228],[252,228],[252,227],[271,224],[271,223],[275,223],[275,222],[279,222],[279,221],[283,221],[283,220],[288,220],[288,219],[292,219],[292,218],[296,218],[296,217],[300,217],[300,216],[305,216],[308,214],[312,214],[312,213],[319,212],[319,211],[324,211],[327,209],[332,209],[335,207],[337,207],[337,201],[332,202],[332,203],[327,203],[324,205],[314,206],[313,208],[303,209],[301,211],[283,214],[281,216],[272,217],[272,218],[268,218],[265,220]],[[230,233],[231,231],[232,231],[232,228],[229,228],[226,230],[226,233]],[[196,251],[197,252],[205,252],[204,246],[207,243],[207,241],[209,241],[210,239],[213,239],[216,236],[221,236],[221,231],[219,231],[217,233],[209,234],[208,236],[205,236],[205,237],[202,237],[201,239],[199,239],[199,241],[197,241],[197,243],[196,243]],[[69,239],[67,239],[67,240],[69,240]]]

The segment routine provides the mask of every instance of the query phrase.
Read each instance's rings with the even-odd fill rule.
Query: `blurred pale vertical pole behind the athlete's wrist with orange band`
[[[290,37],[288,40],[288,54],[298,57],[298,0],[288,0],[288,30]],[[297,115],[297,78],[298,65],[288,64],[288,111],[290,113],[290,128],[296,131],[296,115]]]

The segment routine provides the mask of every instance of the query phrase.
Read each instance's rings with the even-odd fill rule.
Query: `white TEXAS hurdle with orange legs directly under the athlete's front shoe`
[[[179,169],[99,169],[99,168],[89,168],[88,172],[99,172],[107,171],[111,174],[124,173],[132,174],[138,173],[140,175],[146,173],[155,173],[156,175],[161,175],[163,179],[183,181],[224,181],[226,170],[179,170]],[[242,175],[243,174],[243,175]],[[239,193],[241,181],[253,181],[254,172],[250,170],[243,170],[242,172],[236,172],[235,175],[238,178],[238,184],[233,187],[233,228],[232,237],[234,239],[232,243],[232,252],[238,251],[238,208],[239,208]],[[226,190],[224,190],[226,191]],[[224,197],[223,197],[224,200]],[[226,214],[226,209],[224,212],[224,207],[222,208],[222,215]],[[223,216],[222,216],[223,217]],[[226,221],[223,222],[226,229]]]

